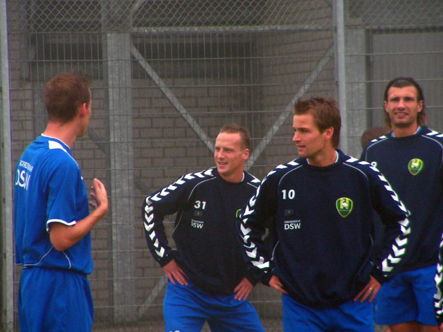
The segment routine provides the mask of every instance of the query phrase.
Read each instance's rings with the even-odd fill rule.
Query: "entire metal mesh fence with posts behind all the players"
[[[296,156],[293,102],[330,96],[341,101],[345,119],[341,147],[359,156],[361,133],[383,123],[384,85],[410,75],[424,87],[430,127],[443,130],[442,1],[1,3],[5,331],[19,329],[12,169],[44,131],[42,87],[56,73],[92,79],[91,124],[73,154],[87,185],[104,181],[111,203],[92,230],[94,331],[163,330],[165,277],[147,251],[141,202],[181,174],[212,166],[222,124],[249,129],[247,168],[262,178]],[[169,234],[173,220],[166,221]],[[266,331],[282,331],[280,296],[259,285],[250,299]]]

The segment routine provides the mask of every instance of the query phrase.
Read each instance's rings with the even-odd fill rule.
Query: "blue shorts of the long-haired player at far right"
[[[436,266],[399,273],[383,284],[375,297],[375,322],[393,325],[419,322],[436,326],[433,297]]]

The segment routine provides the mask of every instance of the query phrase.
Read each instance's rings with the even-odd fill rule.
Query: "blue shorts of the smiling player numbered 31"
[[[168,280],[163,316],[166,332],[200,332],[208,321],[212,332],[264,332],[257,311],[247,299],[235,295],[211,295],[188,282],[188,286]]]

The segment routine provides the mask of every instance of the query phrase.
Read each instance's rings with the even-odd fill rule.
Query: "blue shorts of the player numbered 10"
[[[285,332],[374,332],[372,308],[368,301],[348,301],[335,308],[314,309],[283,295],[283,329]]]

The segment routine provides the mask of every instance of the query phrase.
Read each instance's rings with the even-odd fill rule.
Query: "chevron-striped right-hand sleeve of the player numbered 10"
[[[364,163],[364,162],[363,162]],[[392,189],[390,183],[376,167],[370,166],[370,190],[372,206],[380,215],[385,225],[385,234],[379,255],[372,261],[372,276],[380,283],[395,273],[406,253],[408,235],[410,234],[409,212]]]

